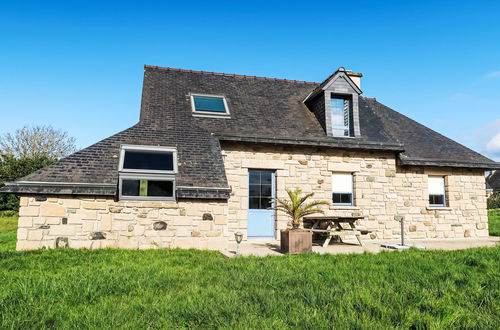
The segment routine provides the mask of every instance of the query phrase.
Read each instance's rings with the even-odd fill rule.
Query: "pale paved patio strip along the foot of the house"
[[[383,248],[382,244],[399,244],[398,240],[363,240],[363,246],[351,243],[332,243],[328,247],[323,248],[319,244],[313,244],[313,252],[320,254],[346,254],[346,253],[378,253],[380,251],[395,251],[392,249]],[[356,242],[357,243],[357,242]],[[406,244],[414,244],[424,246],[430,250],[461,250],[475,247],[493,247],[500,244],[500,237],[490,236],[488,238],[449,238],[449,239],[413,239],[405,240]],[[283,255],[280,251],[280,242],[274,239],[249,239],[241,243],[241,255],[244,256],[269,256]],[[228,250],[221,251],[227,257],[233,257],[236,253],[236,243],[230,246]]]

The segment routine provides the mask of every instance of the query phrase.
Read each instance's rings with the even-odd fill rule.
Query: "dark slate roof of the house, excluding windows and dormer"
[[[318,86],[145,66],[139,123],[1,190],[116,195],[121,144],[177,147],[177,196],[182,198],[228,197],[220,140],[404,151],[402,164],[500,168],[499,163],[363,97],[361,137],[328,137],[303,103]],[[190,93],[224,95],[230,118],[193,117]]]

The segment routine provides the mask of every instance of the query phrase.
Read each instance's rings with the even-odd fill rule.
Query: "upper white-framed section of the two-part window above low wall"
[[[170,147],[122,146],[120,171],[141,173],[175,173],[176,150]]]

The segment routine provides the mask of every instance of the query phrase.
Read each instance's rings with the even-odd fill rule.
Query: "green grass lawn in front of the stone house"
[[[500,319],[500,247],[232,259],[2,250],[1,329],[495,329]]]

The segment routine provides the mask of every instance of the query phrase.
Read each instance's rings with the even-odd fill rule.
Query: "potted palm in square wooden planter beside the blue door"
[[[286,190],[289,200],[276,198],[276,210],[286,213],[291,218],[291,229],[281,231],[281,250],[287,253],[305,253],[312,251],[312,232],[300,228],[303,217],[314,213],[324,213],[319,205],[330,204],[327,201],[311,201],[314,193],[303,194],[302,190]]]

